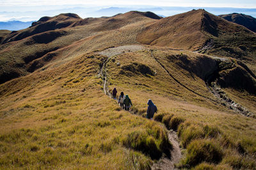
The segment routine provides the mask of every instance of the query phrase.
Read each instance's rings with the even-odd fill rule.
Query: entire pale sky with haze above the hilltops
[[[113,6],[118,9],[111,8]],[[176,7],[171,8],[173,6]],[[68,12],[82,18],[111,16],[130,10],[171,16],[198,8],[205,8],[214,15],[237,12],[256,17],[256,0],[0,0],[0,22],[35,21]]]

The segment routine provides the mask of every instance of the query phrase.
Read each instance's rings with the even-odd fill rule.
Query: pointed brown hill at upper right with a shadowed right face
[[[138,35],[147,45],[200,50],[221,57],[256,60],[256,35],[205,10],[192,10],[152,22]]]

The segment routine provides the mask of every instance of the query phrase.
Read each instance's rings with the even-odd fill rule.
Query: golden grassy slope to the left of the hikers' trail
[[[148,167],[148,157],[127,149],[128,134],[159,147],[166,132],[120,111],[96,76],[104,57],[90,56],[1,85],[1,168]]]

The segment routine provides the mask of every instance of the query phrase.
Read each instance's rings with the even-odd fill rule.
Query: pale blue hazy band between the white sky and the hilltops
[[[3,3],[3,2],[2,2]],[[1,3],[0,3],[1,5]],[[165,17],[178,13],[183,13],[193,9],[204,8],[214,15],[228,13],[244,13],[256,17],[256,8],[227,8],[227,7],[207,7],[207,6],[150,6],[150,5],[113,5],[113,6],[96,6],[96,5],[43,5],[43,6],[1,6],[0,22],[19,20],[22,22],[39,20],[41,17],[53,17],[60,13],[76,13],[81,18],[112,16],[117,13],[125,13],[131,10],[152,11],[157,15]]]

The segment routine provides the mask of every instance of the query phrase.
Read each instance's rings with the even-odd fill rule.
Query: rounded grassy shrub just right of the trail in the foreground
[[[199,139],[188,145],[188,153],[183,164],[187,167],[196,166],[200,162],[218,163],[223,157],[220,145],[210,139]]]

